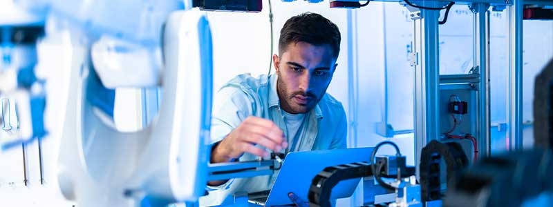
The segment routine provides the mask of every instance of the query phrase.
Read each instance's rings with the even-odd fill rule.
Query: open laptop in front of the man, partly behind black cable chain
[[[339,150],[316,150],[290,152],[286,155],[277,179],[271,190],[251,193],[248,202],[259,206],[284,206],[293,204],[288,193],[309,203],[308,192],[315,175],[328,166],[371,161],[373,148],[349,148]],[[330,199],[353,195],[361,178],[340,181],[330,194]]]

